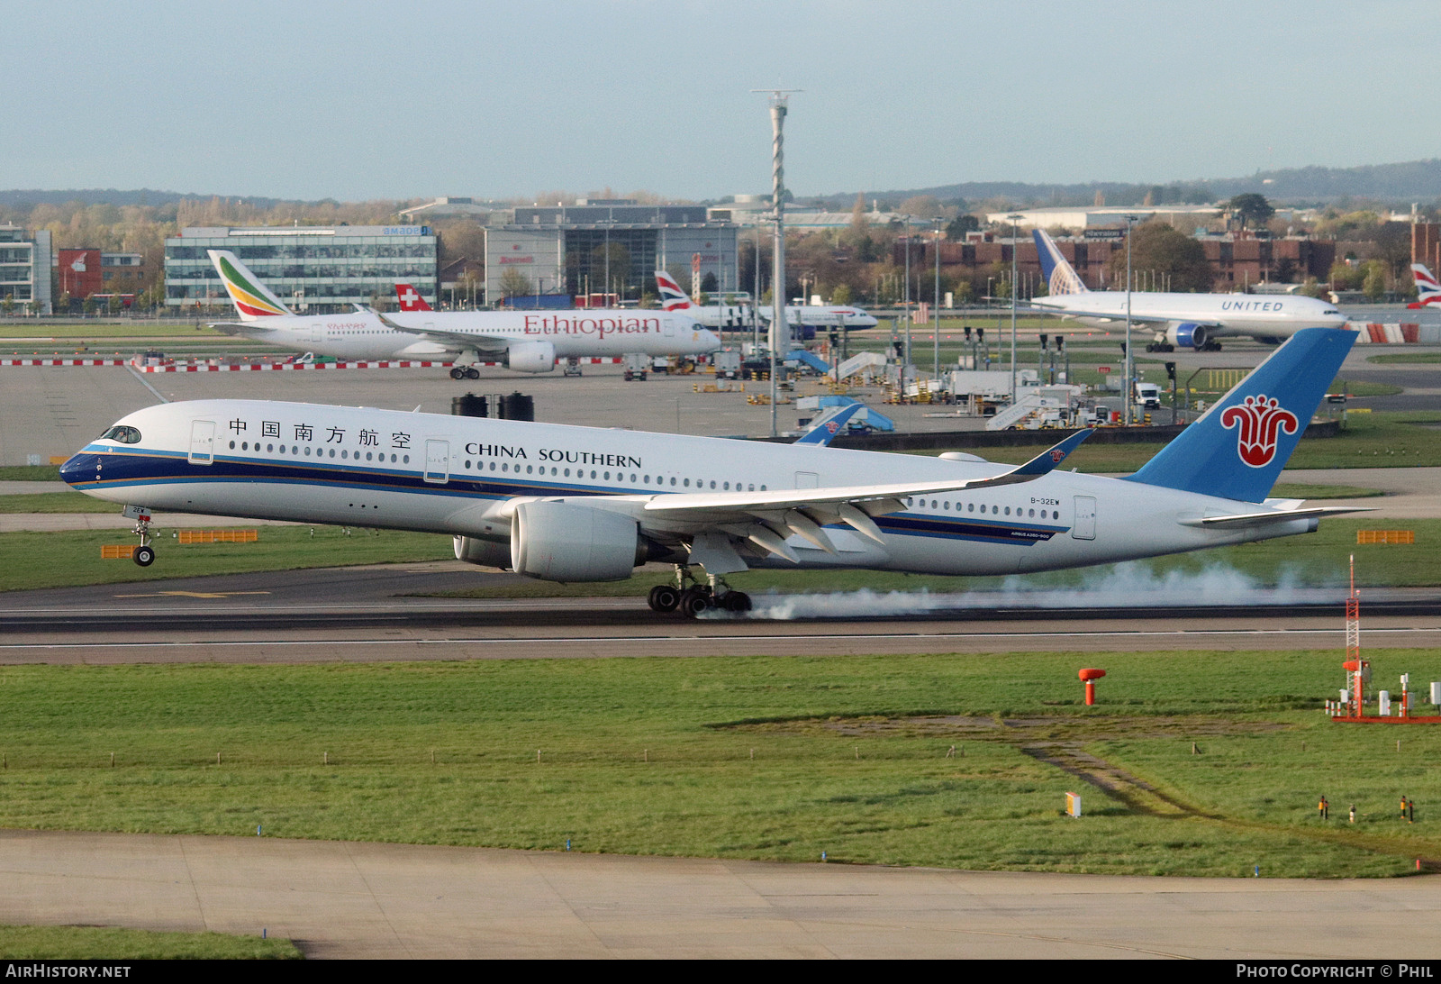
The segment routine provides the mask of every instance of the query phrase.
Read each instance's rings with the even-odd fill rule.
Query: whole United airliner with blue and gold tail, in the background
[[[1085,325],[1125,323],[1124,290],[1088,290],[1066,263],[1055,240],[1035,231],[1048,294],[1027,304]],[[1336,304],[1314,297],[1252,294],[1172,294],[1136,290],[1130,294],[1131,323],[1156,332],[1147,352],[1172,352],[1179,345],[1215,351],[1218,338],[1248,335],[1280,342],[1304,328],[1342,328],[1346,316]]]

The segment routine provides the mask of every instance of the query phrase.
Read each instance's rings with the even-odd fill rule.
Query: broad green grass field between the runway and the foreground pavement
[[[1429,651],[1370,658],[1378,681],[1441,675]],[[569,840],[787,861],[826,851],[977,870],[1404,874],[1441,857],[1429,770],[1441,733],[1330,723],[1317,708],[1342,684],[1342,659],[7,667],[0,825],[536,850]],[[1075,677],[1084,665],[1110,674],[1092,708]],[[1084,794],[1081,821],[1062,815],[1066,791]],[[1324,824],[1323,794],[1334,805]],[[1415,824],[1398,821],[1401,795],[1417,801]]]

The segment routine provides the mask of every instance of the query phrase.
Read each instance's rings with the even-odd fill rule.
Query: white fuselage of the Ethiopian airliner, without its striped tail
[[[402,312],[386,317],[403,328],[474,335],[467,346],[452,338],[411,335],[385,325],[375,313],[275,315],[226,330],[269,345],[342,359],[442,359],[467,351],[503,352],[509,345],[546,342],[556,358],[644,355],[703,355],[720,339],[695,319],[659,310],[566,312]],[[497,343],[497,339],[500,343]]]

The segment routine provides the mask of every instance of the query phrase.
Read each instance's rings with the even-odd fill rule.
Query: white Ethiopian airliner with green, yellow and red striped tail
[[[241,320],[212,323],[229,335],[342,359],[435,359],[455,362],[451,378],[478,379],[477,362],[504,362],[517,372],[550,372],[572,356],[705,355],[720,348],[715,332],[683,313],[416,312],[386,316],[295,315],[233,252],[210,250]]]

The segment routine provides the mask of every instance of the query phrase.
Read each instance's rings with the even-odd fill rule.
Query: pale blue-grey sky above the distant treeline
[[[1422,0],[4,0],[0,188],[1164,183],[1441,154]]]

